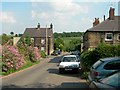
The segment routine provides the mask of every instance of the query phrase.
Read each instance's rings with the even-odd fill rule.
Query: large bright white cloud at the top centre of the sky
[[[65,0],[50,2],[50,5],[56,12],[61,13],[69,13],[72,15],[78,13],[88,13],[88,7],[85,5],[80,5],[78,3],[73,2],[73,0]]]

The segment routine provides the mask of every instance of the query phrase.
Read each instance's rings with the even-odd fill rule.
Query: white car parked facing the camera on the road
[[[79,72],[80,61],[76,55],[66,55],[60,61],[59,64],[59,73],[64,71],[76,71]]]

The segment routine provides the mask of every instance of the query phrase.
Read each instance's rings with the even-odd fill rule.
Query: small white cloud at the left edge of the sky
[[[0,22],[16,23],[16,20],[11,12],[0,12]]]

